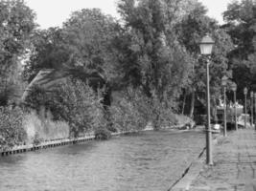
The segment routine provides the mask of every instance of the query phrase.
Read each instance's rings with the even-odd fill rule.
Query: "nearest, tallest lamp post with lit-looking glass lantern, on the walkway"
[[[202,55],[210,55],[213,50],[214,41],[209,35],[205,35],[199,43],[200,53]],[[207,96],[207,133],[206,133],[206,163],[213,165],[212,158],[212,130],[210,118],[210,83],[209,83],[209,65],[210,61],[207,59],[206,64],[206,96]]]

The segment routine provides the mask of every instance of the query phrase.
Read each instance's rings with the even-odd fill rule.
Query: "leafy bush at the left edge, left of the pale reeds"
[[[0,108],[0,145],[3,148],[23,143],[27,134],[23,123],[24,113],[20,108]]]

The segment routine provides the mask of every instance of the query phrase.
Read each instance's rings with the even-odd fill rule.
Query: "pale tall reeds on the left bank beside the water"
[[[54,121],[50,112],[42,116],[32,111],[25,116],[23,125],[29,143],[34,141],[35,135],[44,140],[69,137],[69,125],[64,121]]]

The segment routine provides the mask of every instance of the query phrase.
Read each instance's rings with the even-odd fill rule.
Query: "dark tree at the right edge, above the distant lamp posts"
[[[223,13],[226,24],[223,26],[231,36],[235,49],[229,53],[229,68],[233,80],[238,84],[238,99],[244,96],[244,87],[256,90],[256,2],[253,0],[235,1]]]

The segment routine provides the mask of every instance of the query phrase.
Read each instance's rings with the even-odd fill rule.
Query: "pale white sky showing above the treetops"
[[[222,23],[221,13],[232,0],[199,0],[208,9],[208,15]],[[60,27],[72,11],[85,8],[99,8],[106,14],[118,17],[117,0],[25,0],[35,11],[40,28]]]

